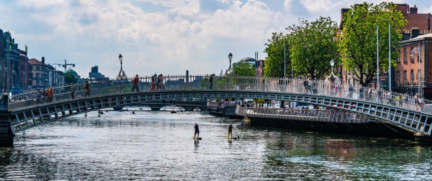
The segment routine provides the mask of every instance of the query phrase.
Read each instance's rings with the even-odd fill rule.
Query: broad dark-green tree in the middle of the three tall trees
[[[319,17],[309,22],[299,19],[299,25],[287,28],[291,34],[290,55],[296,75],[323,78],[329,73],[330,61],[339,60],[334,41],[337,23],[330,17]]]

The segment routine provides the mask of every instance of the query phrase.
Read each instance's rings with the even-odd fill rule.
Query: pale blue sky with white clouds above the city
[[[244,57],[264,59],[272,32],[299,18],[330,16],[364,0],[0,0],[0,29],[29,58],[76,64],[115,78],[123,56],[127,76],[219,74]],[[382,0],[368,0],[379,3]],[[432,13],[430,0],[393,0]],[[63,61],[62,61],[63,60]],[[57,70],[64,70],[63,67]]]

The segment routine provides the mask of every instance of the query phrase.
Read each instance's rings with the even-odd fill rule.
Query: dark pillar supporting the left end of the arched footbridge
[[[9,94],[3,94],[0,98],[0,147],[13,147],[15,135],[10,127],[8,103]]]

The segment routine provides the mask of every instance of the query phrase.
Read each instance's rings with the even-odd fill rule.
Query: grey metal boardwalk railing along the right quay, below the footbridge
[[[245,117],[260,117],[286,120],[322,121],[334,123],[381,122],[369,117],[339,110],[292,109],[292,108],[251,108],[237,106],[235,113]]]

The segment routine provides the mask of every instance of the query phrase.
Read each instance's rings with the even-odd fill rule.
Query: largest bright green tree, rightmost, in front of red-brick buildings
[[[344,68],[354,79],[368,86],[377,73],[376,28],[378,25],[378,64],[388,69],[388,24],[391,25],[391,64],[396,65],[399,54],[396,45],[402,38],[401,29],[407,23],[394,3],[363,3],[351,6],[343,15],[343,29],[338,36],[338,48]]]

